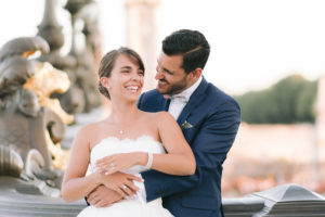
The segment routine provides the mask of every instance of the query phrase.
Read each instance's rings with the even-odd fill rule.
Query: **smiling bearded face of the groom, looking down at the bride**
[[[176,94],[185,90],[191,84],[188,74],[182,67],[182,55],[166,55],[160,53],[157,60],[157,90],[161,94]]]

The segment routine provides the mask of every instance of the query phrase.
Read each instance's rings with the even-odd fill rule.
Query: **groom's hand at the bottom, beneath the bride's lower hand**
[[[93,190],[88,196],[87,201],[90,205],[95,207],[106,207],[121,201],[123,197],[105,186],[101,184]]]

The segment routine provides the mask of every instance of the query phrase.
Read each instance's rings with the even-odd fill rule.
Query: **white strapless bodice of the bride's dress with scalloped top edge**
[[[94,164],[100,158],[112,154],[129,152],[166,153],[162,144],[154,140],[151,136],[141,136],[134,140],[128,138],[120,140],[116,137],[107,137],[92,148],[90,154],[91,169],[92,171],[94,170]],[[123,173],[136,174],[143,170],[145,170],[143,166],[136,165],[123,170]]]

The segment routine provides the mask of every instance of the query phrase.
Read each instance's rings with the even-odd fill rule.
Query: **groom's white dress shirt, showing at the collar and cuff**
[[[176,120],[179,118],[181,112],[185,107],[185,105],[188,102],[188,100],[190,100],[191,95],[193,94],[193,92],[199,86],[202,79],[203,79],[203,77],[200,76],[196,80],[196,82],[194,82],[186,90],[183,90],[182,92],[180,92],[178,94],[170,95],[171,100],[170,100],[170,104],[169,104],[169,107],[168,107],[168,112],[174,117]],[[142,176],[140,174],[138,176],[142,178]],[[138,195],[139,200],[142,203],[146,203],[146,192],[145,192],[145,188],[144,188],[144,182],[134,181],[134,184],[140,189],[140,191],[136,192],[136,195]]]

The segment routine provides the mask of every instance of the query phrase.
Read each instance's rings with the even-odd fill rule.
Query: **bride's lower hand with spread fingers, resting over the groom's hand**
[[[118,192],[125,199],[134,195],[136,191],[139,191],[139,188],[133,183],[133,180],[143,181],[140,177],[120,171],[116,171],[109,176],[101,176],[101,182],[105,187]]]

